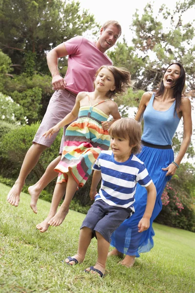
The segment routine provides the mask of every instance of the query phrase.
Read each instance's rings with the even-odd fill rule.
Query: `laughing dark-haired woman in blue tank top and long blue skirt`
[[[160,88],[156,93],[142,95],[135,119],[144,120],[142,150],[138,158],[143,161],[156,186],[156,204],[152,216],[146,217],[150,227],[138,232],[138,223],[144,215],[147,201],[145,188],[137,185],[134,204],[135,214],[125,220],[112,235],[111,246],[115,249],[109,255],[125,258],[120,264],[131,267],[140,252],[150,251],[155,235],[152,223],[162,209],[161,195],[166,183],[176,173],[184,157],[192,135],[190,100],[184,97],[185,70],[180,63],[170,64],[163,74]],[[172,139],[179,121],[183,117],[183,141],[174,160]]]

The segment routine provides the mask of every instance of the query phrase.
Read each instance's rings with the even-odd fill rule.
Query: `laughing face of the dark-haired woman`
[[[165,88],[172,88],[176,83],[176,80],[180,76],[180,67],[177,64],[172,64],[167,68],[167,71],[163,77],[163,84]]]

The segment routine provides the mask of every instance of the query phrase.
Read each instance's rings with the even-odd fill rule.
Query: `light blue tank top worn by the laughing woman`
[[[144,127],[141,139],[153,145],[172,145],[172,139],[180,119],[174,109],[176,101],[166,111],[157,111],[153,108],[155,93],[153,93],[144,114]]]

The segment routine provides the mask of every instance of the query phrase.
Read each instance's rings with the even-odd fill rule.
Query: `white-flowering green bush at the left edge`
[[[0,120],[17,125],[28,123],[28,119],[24,116],[23,107],[2,93],[0,93]]]

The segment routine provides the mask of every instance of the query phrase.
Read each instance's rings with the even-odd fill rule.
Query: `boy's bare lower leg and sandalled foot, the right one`
[[[98,239],[98,260],[96,265],[94,266],[95,269],[98,269],[100,272],[104,273],[106,268],[106,260],[108,257],[108,251],[110,248],[110,243],[106,241],[106,239],[96,231],[96,236]],[[90,271],[90,268],[86,269],[86,271]],[[95,271],[90,271],[91,273],[98,273]]]

